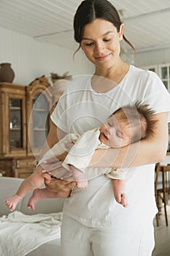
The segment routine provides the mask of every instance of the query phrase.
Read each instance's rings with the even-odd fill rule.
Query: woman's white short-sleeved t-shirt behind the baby
[[[52,113],[54,124],[66,133],[81,135],[89,129],[100,127],[117,108],[138,100],[149,104],[155,113],[170,111],[169,93],[154,72],[131,66],[123,80],[104,94],[93,91],[91,77],[82,75],[74,78]],[[103,83],[108,83],[108,80],[103,78]],[[135,151],[131,152],[129,157],[134,154]],[[115,201],[112,181],[101,175],[88,181],[87,188],[72,190],[71,196],[65,200],[64,214],[89,227],[135,225],[137,228],[147,225],[157,212],[155,165],[129,167],[126,173],[127,208]]]

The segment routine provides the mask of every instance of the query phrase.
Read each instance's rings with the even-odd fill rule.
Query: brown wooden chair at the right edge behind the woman
[[[156,203],[159,210],[160,209],[159,197],[161,197],[161,200],[164,206],[166,226],[169,225],[167,211],[166,211],[166,205],[168,203],[169,195],[170,195],[170,165],[161,166],[158,163],[155,167],[155,199],[156,199]],[[157,222],[157,225],[159,226],[158,214],[156,214],[156,222]]]

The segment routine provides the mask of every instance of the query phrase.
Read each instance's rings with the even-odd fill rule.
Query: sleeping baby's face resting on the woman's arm
[[[99,139],[111,148],[120,148],[131,143],[131,131],[121,121],[120,114],[115,113],[101,125]]]

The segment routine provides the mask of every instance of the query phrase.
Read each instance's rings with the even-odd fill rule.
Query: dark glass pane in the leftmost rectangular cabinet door
[[[23,148],[23,100],[9,99],[9,148]]]

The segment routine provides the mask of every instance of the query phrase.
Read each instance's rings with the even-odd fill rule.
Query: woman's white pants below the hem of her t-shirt
[[[152,223],[151,223],[152,224]],[[154,248],[153,226],[133,231],[133,227],[93,228],[63,216],[62,256],[151,256]]]

